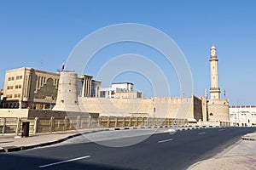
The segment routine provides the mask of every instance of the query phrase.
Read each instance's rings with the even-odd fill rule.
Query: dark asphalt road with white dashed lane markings
[[[186,169],[215,156],[255,127],[224,127],[159,133],[139,144],[107,147],[96,143],[62,144],[0,154],[7,169]],[[111,139],[113,143],[141,138]]]

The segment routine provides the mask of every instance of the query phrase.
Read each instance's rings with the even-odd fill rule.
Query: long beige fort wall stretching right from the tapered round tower
[[[201,102],[192,98],[155,97],[146,99],[79,98],[84,112],[97,112],[102,116],[131,116],[136,114],[166,118],[201,118]]]

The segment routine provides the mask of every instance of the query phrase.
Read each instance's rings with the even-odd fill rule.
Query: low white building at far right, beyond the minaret
[[[240,127],[256,126],[256,105],[230,106],[230,122]]]

